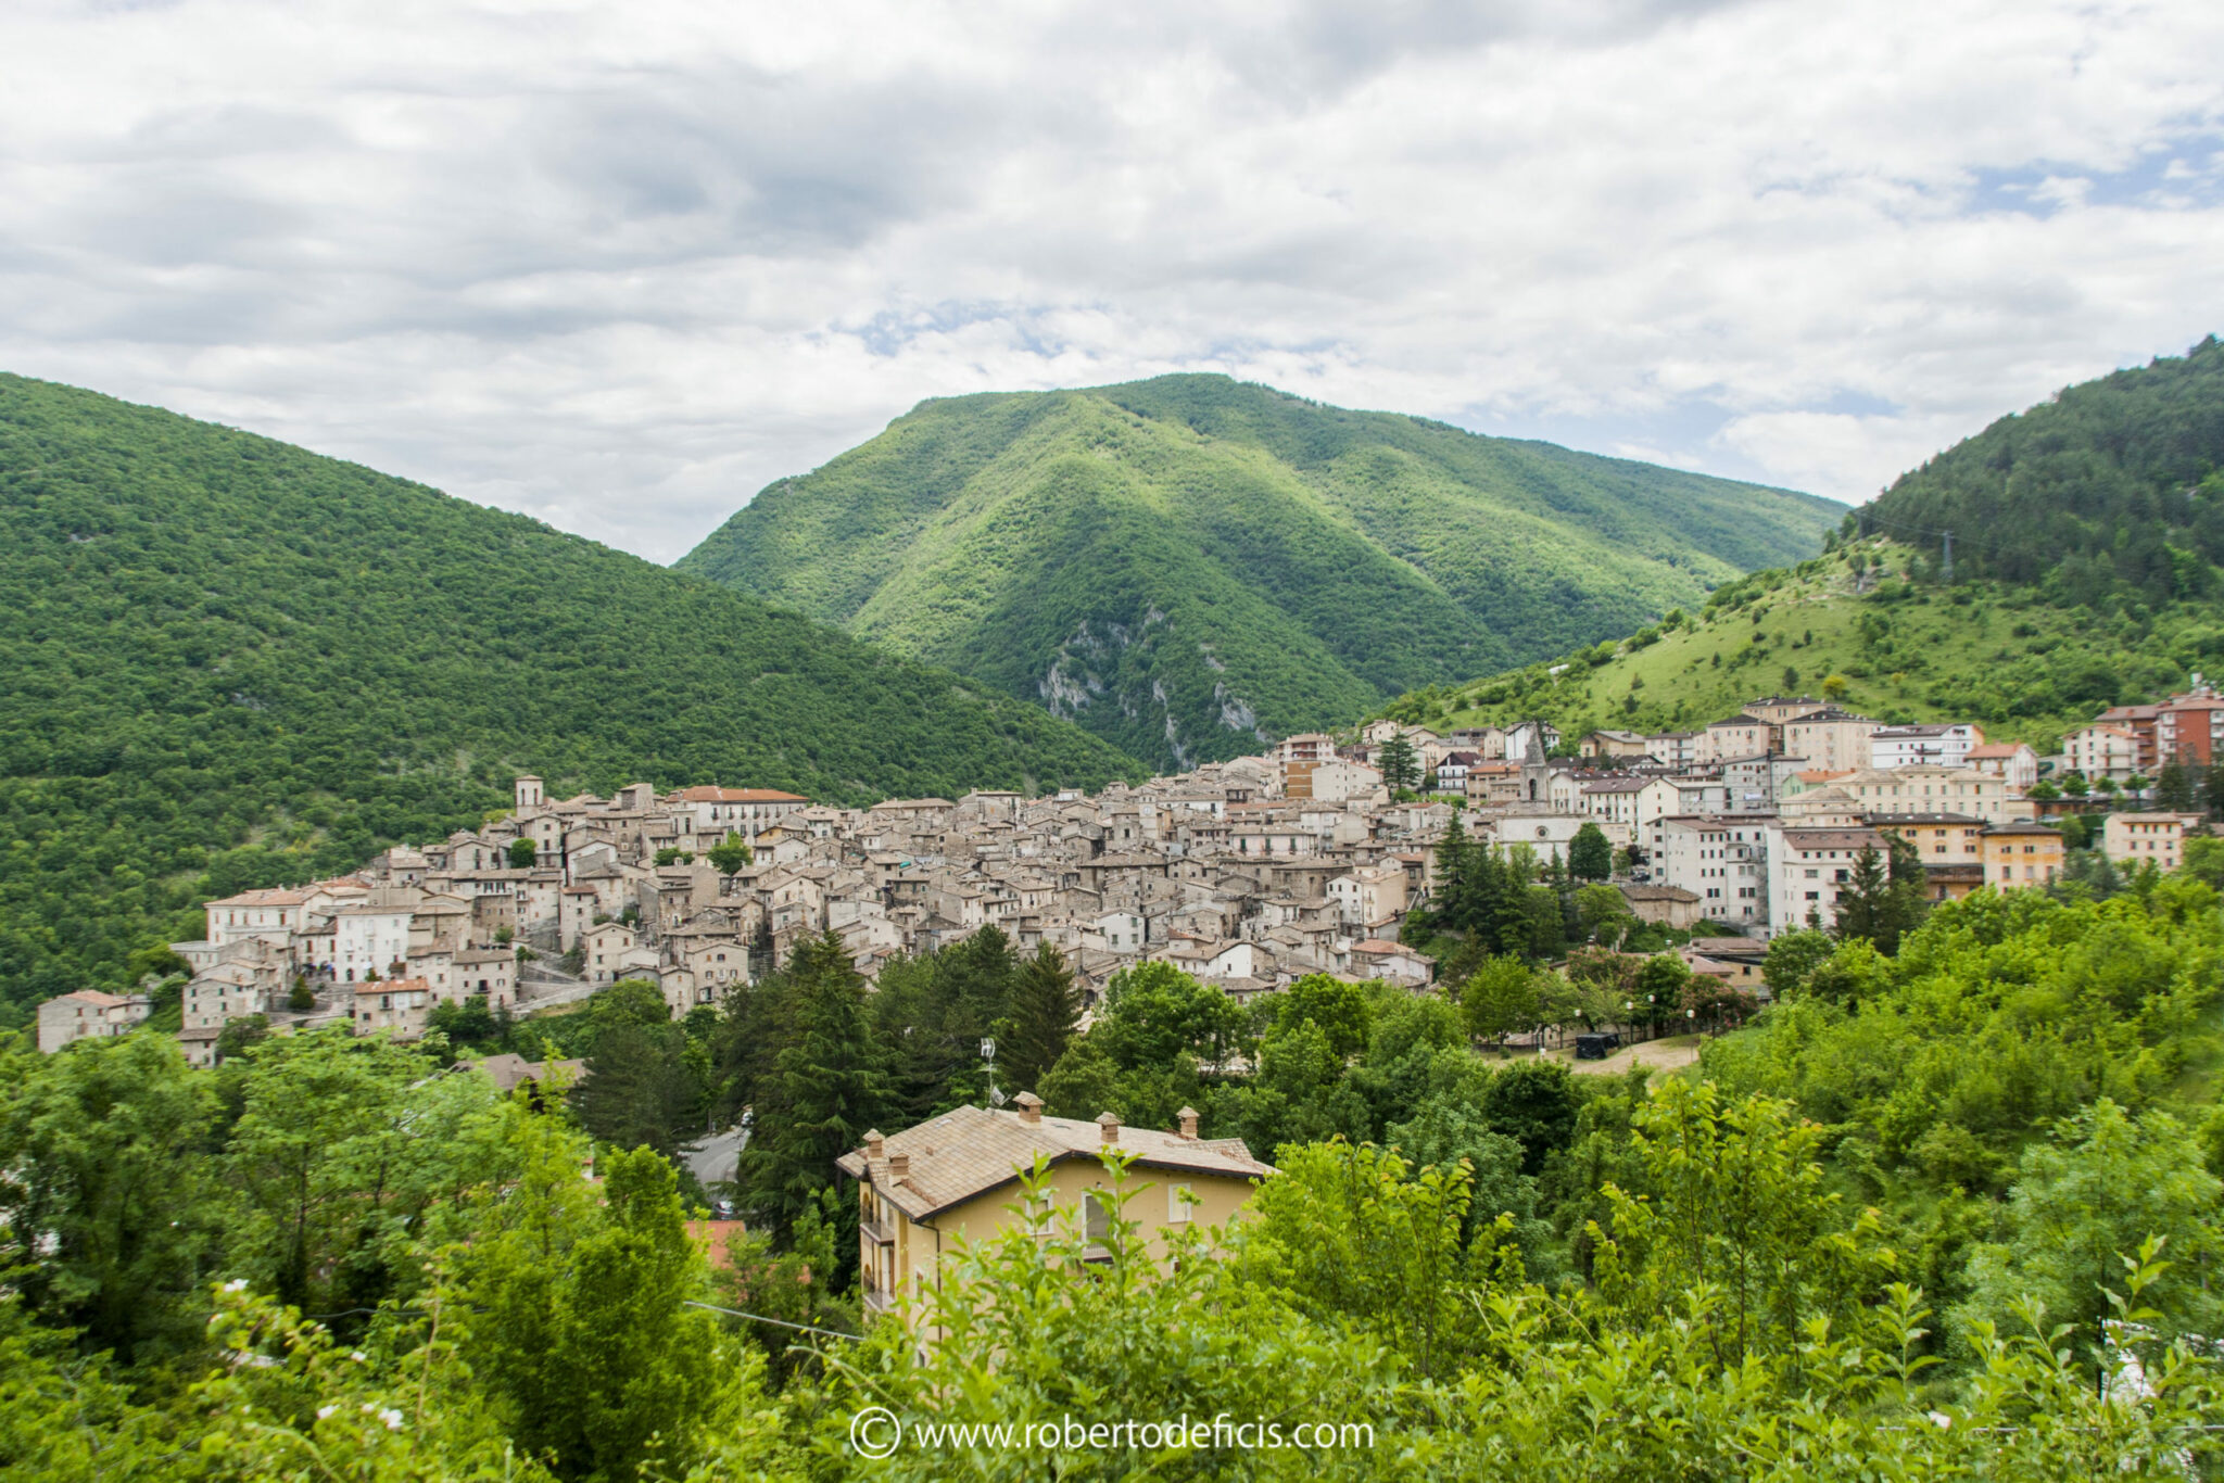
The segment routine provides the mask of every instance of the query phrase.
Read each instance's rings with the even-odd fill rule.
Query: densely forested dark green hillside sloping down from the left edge
[[[113,983],[202,896],[476,823],[514,769],[836,803],[1136,772],[714,583],[16,376],[0,545],[0,1005]]]

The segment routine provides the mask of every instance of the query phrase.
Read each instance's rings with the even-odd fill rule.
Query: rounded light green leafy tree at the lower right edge
[[[2164,1334],[2215,1334],[2224,1323],[2224,1183],[2200,1145],[2164,1112],[2128,1116],[2102,1098],[2066,1118],[2057,1143],[2024,1152],[2002,1241],[1968,1256],[1964,1330],[2015,1327],[2015,1305],[2037,1298],[2048,1323],[2075,1323],[2099,1345],[2113,1318],[2106,1292],[2124,1285],[2124,1256],[2160,1238],[2164,1258],[2146,1290],[2148,1325]]]

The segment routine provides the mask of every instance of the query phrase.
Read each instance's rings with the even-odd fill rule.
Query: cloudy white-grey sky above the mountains
[[[2213,0],[0,7],[0,369],[658,560],[954,391],[1857,500],[2213,329]]]

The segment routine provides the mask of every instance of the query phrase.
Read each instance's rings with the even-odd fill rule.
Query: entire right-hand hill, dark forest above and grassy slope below
[[[1995,740],[2051,752],[2102,707],[2224,667],[2220,469],[2224,347],[2208,338],[1957,442],[1846,516],[1819,558],[1386,714],[1679,729],[1828,687],[1884,720],[1975,718]]]

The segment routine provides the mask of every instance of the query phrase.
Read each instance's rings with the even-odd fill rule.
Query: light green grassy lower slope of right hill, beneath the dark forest
[[[1837,674],[1846,709],[1979,720],[1993,740],[2046,752],[2099,707],[2182,685],[2188,669],[2224,656],[2224,629],[2202,605],[2133,618],[2055,607],[2017,583],[1910,587],[1904,574],[1922,554],[1877,538],[1855,549],[1888,563],[1893,578],[1870,578],[1857,594],[1848,551],[1753,574],[1684,625],[1563,656],[1557,678],[1552,665],[1530,665],[1401,696],[1388,714],[1437,725],[1543,716],[1563,729],[1697,729],[1793,685],[1821,694]],[[1648,631],[1659,638],[1644,643]]]

